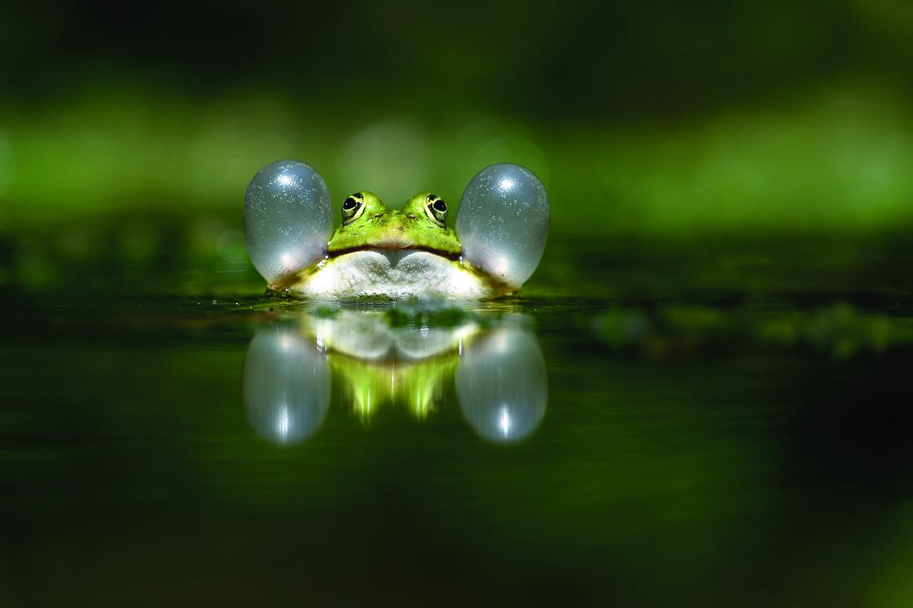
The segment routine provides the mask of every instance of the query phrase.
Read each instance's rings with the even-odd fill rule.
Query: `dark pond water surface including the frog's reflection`
[[[913,600],[903,247],[559,241],[461,311],[29,247],[2,605]]]

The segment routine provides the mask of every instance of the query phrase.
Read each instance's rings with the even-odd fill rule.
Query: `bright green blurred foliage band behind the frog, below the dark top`
[[[519,162],[546,183],[552,231],[567,235],[877,234],[913,222],[913,117],[901,97],[862,86],[672,123],[545,124],[472,107],[428,121],[253,92],[203,102],[111,89],[0,116],[0,204],[16,225],[195,209],[238,229],[250,177],[289,157],[317,168],[335,203],[368,188],[399,206],[427,189],[454,211],[482,166]]]

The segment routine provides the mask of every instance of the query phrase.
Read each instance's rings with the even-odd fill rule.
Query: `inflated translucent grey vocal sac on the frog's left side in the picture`
[[[247,253],[270,283],[319,260],[332,230],[330,191],[320,173],[304,162],[268,164],[247,186]]]

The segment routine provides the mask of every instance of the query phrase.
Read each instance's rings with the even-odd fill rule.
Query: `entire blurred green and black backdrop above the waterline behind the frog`
[[[913,227],[906,0],[6,12],[7,243],[198,215],[215,248],[250,177],[282,158],[339,201],[369,188],[392,204],[425,189],[456,203],[486,164],[519,162],[546,183],[558,237]]]

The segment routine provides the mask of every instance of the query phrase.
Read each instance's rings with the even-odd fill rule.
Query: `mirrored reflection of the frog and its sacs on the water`
[[[364,421],[390,404],[424,419],[444,404],[456,375],[460,410],[477,435],[495,442],[530,435],[548,398],[535,336],[516,317],[434,325],[394,326],[383,312],[344,309],[258,331],[244,365],[250,424],[274,443],[308,439],[329,409],[331,376]]]

